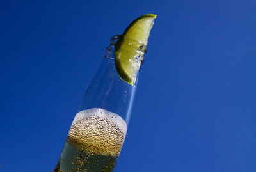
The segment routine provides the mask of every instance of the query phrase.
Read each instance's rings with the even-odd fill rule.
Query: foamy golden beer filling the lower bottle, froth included
[[[127,124],[104,109],[77,113],[54,171],[113,171]]]

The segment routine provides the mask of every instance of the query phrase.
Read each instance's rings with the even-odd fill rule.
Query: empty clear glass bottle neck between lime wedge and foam
[[[114,50],[118,38],[120,36],[111,38],[106,55],[84,95],[79,111],[92,108],[105,109],[122,116],[128,124],[137,84],[132,86],[124,82],[116,71]]]

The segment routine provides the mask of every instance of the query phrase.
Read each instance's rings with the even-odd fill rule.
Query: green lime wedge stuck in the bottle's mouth
[[[136,82],[155,18],[154,14],[138,17],[129,24],[115,44],[115,66],[118,75],[132,86]]]

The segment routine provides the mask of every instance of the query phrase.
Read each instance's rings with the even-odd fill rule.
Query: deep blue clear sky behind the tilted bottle
[[[1,1],[0,171],[52,171],[109,38],[155,13],[116,171],[256,171],[255,1]]]

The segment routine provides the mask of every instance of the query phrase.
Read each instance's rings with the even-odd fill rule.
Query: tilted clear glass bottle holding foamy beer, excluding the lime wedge
[[[120,36],[113,36],[110,40],[106,56],[83,97],[54,171],[107,172],[115,169],[136,91],[136,84],[132,86],[120,79],[115,68],[114,48]],[[145,49],[141,49],[142,43],[138,40],[132,40],[132,43],[131,50],[143,59],[141,54],[143,56]]]

